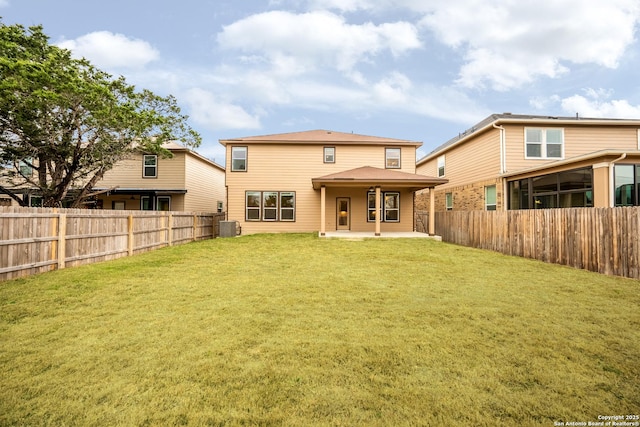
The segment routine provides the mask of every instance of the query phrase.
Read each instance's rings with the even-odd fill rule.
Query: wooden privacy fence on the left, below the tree
[[[0,208],[0,280],[218,235],[224,213]]]

